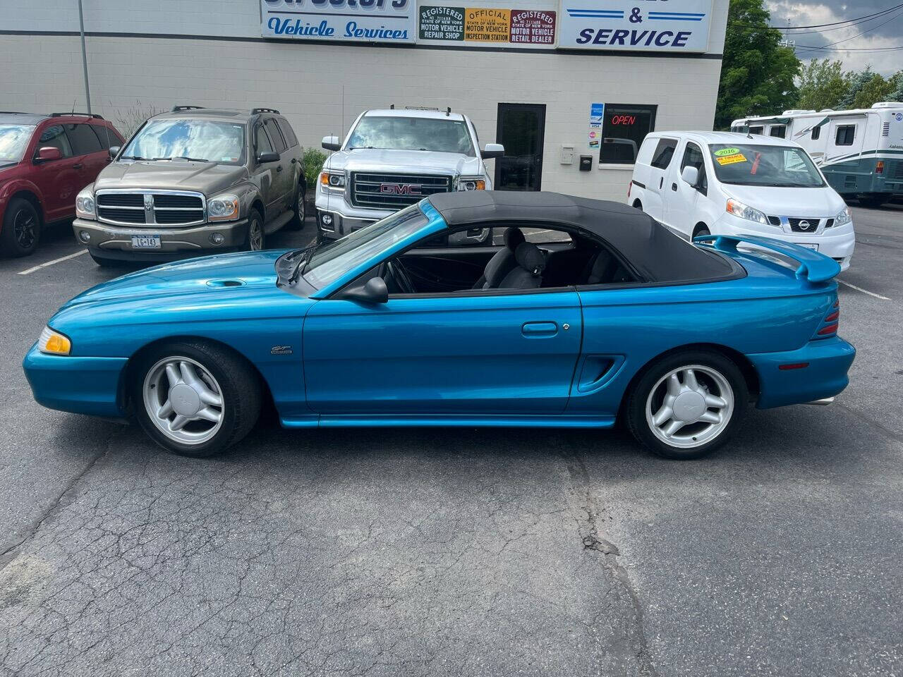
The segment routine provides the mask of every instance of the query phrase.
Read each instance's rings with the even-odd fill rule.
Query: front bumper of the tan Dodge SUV
[[[152,259],[177,253],[200,255],[204,251],[211,253],[228,251],[242,246],[247,241],[247,218],[190,227],[164,227],[151,224],[136,227],[112,226],[100,221],[76,218],[72,222],[72,232],[79,245],[88,246],[88,249],[98,256],[116,259]],[[82,232],[88,234],[88,242],[80,237]],[[210,241],[210,236],[214,233],[223,236],[223,241],[219,245],[214,245]],[[160,236],[160,248],[135,249],[132,246],[132,236],[142,235]]]

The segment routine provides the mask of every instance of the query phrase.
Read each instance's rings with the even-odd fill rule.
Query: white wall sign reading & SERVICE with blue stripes
[[[694,52],[709,48],[712,0],[561,0],[558,46],[604,51]]]

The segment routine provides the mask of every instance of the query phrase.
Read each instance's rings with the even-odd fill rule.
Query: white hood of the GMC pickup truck
[[[483,173],[483,163],[461,153],[432,151],[396,151],[384,148],[358,148],[332,153],[326,169],[348,172],[411,172],[474,176]]]

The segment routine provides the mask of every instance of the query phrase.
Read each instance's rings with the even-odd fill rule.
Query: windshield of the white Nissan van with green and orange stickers
[[[821,188],[822,175],[801,148],[786,145],[709,144],[721,183],[774,188]]]

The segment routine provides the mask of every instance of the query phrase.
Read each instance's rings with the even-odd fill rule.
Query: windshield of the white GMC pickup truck
[[[433,117],[362,117],[346,146],[346,150],[355,148],[476,154],[462,120]]]

